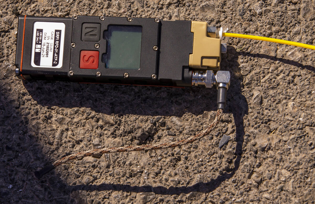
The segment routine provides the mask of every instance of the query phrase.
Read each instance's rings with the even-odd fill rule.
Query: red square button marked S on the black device
[[[82,50],[80,52],[80,69],[97,69],[98,58],[98,51]]]

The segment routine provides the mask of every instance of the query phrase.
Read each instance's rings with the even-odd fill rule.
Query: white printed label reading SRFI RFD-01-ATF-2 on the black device
[[[61,68],[64,41],[64,23],[35,22],[31,66]]]

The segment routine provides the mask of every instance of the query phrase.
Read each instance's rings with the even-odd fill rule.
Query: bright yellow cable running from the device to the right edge
[[[237,34],[237,33],[222,33],[222,36],[224,36],[224,37],[239,37],[239,38],[261,40],[261,41],[268,41],[268,42],[276,42],[276,43],[293,45],[293,46],[297,46],[297,47],[304,47],[304,48],[315,50],[315,46],[313,46],[313,45],[307,45],[307,44],[303,44],[303,43],[299,43],[299,42],[292,42],[292,41],[288,41],[288,40],[279,40],[279,39],[270,38],[270,37],[251,36],[251,35],[243,35],[243,34]]]

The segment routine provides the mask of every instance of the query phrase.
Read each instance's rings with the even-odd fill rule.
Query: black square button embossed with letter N
[[[83,23],[82,24],[82,41],[100,41],[100,24]]]

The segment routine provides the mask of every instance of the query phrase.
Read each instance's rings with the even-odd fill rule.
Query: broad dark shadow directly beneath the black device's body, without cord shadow
[[[45,107],[91,108],[96,113],[150,116],[195,115],[216,109],[216,90],[133,85],[24,81],[32,98]]]

